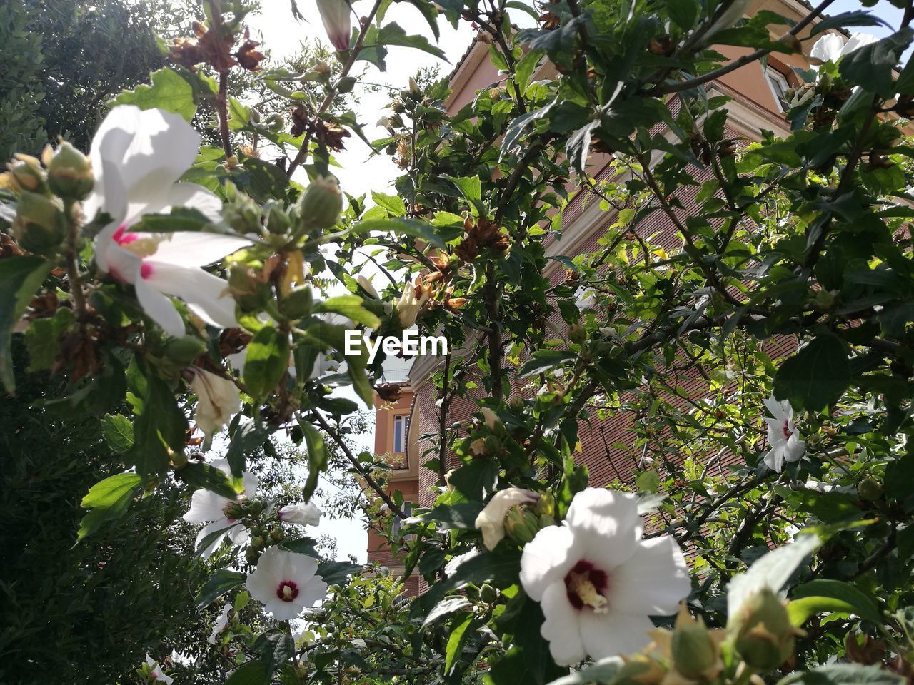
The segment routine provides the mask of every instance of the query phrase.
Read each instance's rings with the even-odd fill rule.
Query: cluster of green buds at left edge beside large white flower
[[[48,145],[41,160],[16,154],[0,174],[0,188],[18,195],[13,236],[19,247],[53,254],[67,234],[65,202],[85,199],[95,181],[90,160],[69,142],[56,151]]]

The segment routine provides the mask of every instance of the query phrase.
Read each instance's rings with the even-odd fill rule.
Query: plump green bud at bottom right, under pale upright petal
[[[803,635],[793,627],[784,602],[767,587],[749,597],[735,618],[739,656],[760,671],[780,666],[793,652],[793,639]]]

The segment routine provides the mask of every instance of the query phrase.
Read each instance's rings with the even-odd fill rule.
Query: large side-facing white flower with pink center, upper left
[[[201,267],[250,245],[247,238],[217,233],[132,230],[144,215],[167,214],[174,207],[196,209],[213,223],[221,220],[217,195],[178,181],[199,148],[199,134],[177,114],[115,107],[92,140],[96,183],[83,205],[87,219],[100,213],[110,219],[93,242],[98,268],[133,285],[143,311],[175,336],[184,335],[185,324],[168,296],[184,300],[211,326],[238,325],[228,283]]]

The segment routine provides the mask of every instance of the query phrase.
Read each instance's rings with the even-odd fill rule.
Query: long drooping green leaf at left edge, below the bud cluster
[[[10,393],[16,392],[10,352],[13,327],[50,269],[49,261],[31,255],[0,259],[0,383]]]

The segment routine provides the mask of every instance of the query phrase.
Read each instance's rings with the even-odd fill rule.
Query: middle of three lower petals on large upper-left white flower
[[[181,298],[188,309],[209,325],[216,328],[238,326],[235,300],[228,294],[225,280],[203,269],[178,267],[156,259],[144,259],[143,268],[143,280],[147,284]]]

